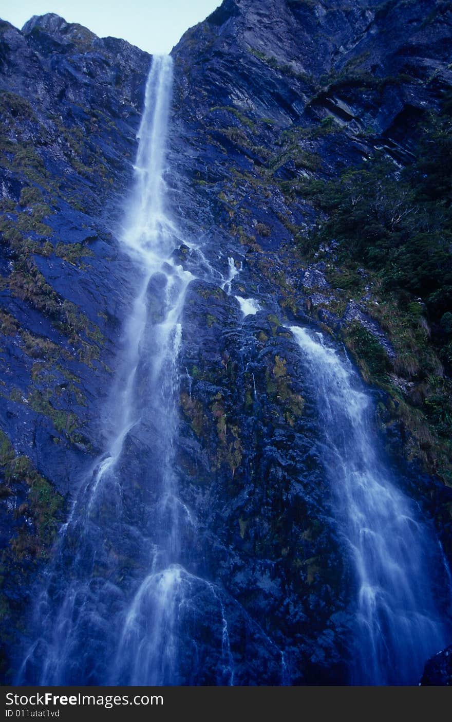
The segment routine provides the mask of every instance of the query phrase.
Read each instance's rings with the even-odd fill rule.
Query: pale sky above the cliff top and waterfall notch
[[[148,53],[169,53],[188,27],[221,0],[0,0],[0,17],[22,27],[32,15],[55,12],[100,38],[113,35]]]

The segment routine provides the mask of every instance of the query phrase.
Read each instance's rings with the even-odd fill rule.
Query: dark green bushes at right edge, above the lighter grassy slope
[[[339,243],[342,262],[360,262],[378,274],[382,292],[394,292],[408,308],[425,303],[433,341],[447,344],[452,305],[452,100],[440,116],[430,116],[417,161],[399,173],[375,157],[339,181],[313,183],[313,198],[329,218],[318,240]],[[451,357],[452,361],[452,357]]]

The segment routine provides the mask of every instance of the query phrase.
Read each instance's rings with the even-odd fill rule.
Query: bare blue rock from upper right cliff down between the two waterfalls
[[[334,243],[326,263],[293,252],[315,219],[294,188],[377,147],[404,162],[414,118],[450,83],[450,35],[450,13],[435,2],[242,0],[223,3],[173,51],[178,222],[225,276],[227,258],[240,263],[230,295],[212,279],[191,284],[186,300],[178,464],[199,526],[184,564],[251,614],[284,651],[292,684],[347,682],[353,580],[329,510],[312,389],[284,327],[311,317],[340,334],[357,324],[395,354],[364,306],[340,306],[326,278]],[[189,269],[190,253],[181,262]],[[235,295],[261,310],[240,317]],[[393,431],[384,443],[396,453]],[[442,485],[425,487],[414,465],[397,473],[446,547]],[[238,683],[256,684],[245,664],[240,674]],[[259,682],[274,684],[266,674]]]

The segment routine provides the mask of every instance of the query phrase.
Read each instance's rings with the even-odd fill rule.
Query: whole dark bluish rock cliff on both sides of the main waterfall
[[[173,50],[170,206],[181,238],[239,271],[229,295],[214,278],[188,289],[177,450],[198,524],[182,562],[225,591],[237,684],[348,679],[350,572],[284,326],[320,323],[347,341],[357,324],[393,365],[401,348],[371,279],[350,299],[331,279],[334,244],[300,252],[318,217],[303,184],[375,150],[410,162],[451,87],[451,23],[441,0],[225,0]],[[63,497],[102,449],[136,273],[118,224],[150,58],[56,15],[0,32],[1,609],[14,647]],[[187,246],[176,253],[190,269]],[[235,295],[262,311],[243,318]],[[403,374],[394,383],[403,393]],[[374,393],[375,435],[451,554],[450,490],[390,395]],[[202,599],[193,625],[204,656],[189,683],[214,684]],[[5,651],[5,679],[10,664]]]

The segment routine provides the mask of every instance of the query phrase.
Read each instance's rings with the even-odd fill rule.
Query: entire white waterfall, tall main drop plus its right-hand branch
[[[22,659],[21,684],[189,683],[181,676],[181,656],[187,653],[181,645],[200,595],[209,596],[217,610],[216,683],[235,683],[223,592],[181,563],[187,539],[196,536],[196,519],[178,497],[173,450],[188,284],[208,277],[230,295],[240,271],[232,257],[227,275],[212,268],[198,243],[180,237],[165,207],[171,86],[172,61],[155,58],[123,232],[123,244],[142,266],[142,282],[128,321],[126,362],[112,392],[113,423],[105,430],[110,444],[81,484],[61,529],[36,604],[38,632]],[[175,260],[181,243],[189,249],[193,273]],[[253,298],[235,298],[243,316],[261,308]],[[289,331],[318,407],[323,465],[353,570],[350,681],[414,684],[428,656],[447,643],[430,582],[447,578],[446,562],[434,532],[397,490],[375,448],[370,399],[348,360],[315,331],[298,326]],[[146,478],[136,477],[128,464],[132,438],[142,435]],[[126,573],[125,550],[134,560]],[[266,640],[279,656],[279,684],[290,683],[284,652]],[[202,640],[191,643],[196,649]]]

